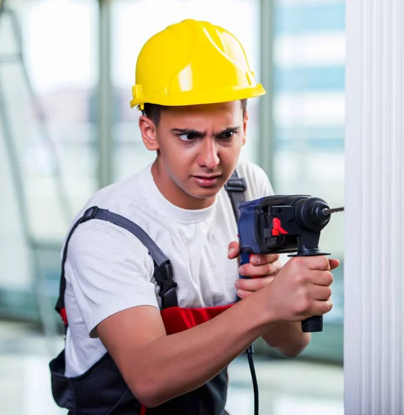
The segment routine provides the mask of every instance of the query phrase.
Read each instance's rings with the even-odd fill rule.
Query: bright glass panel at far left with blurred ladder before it
[[[98,4],[6,4],[0,15],[0,180],[8,203],[1,203],[0,287],[30,287],[40,266],[42,276],[55,280],[54,294],[62,239],[97,186]]]

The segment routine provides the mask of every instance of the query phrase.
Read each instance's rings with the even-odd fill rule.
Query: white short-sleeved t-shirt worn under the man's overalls
[[[246,200],[273,194],[268,177],[257,165],[240,163],[237,172],[246,179]],[[149,165],[96,192],[75,221],[93,205],[133,221],[165,253],[178,284],[178,306],[235,301],[237,261],[228,259],[227,251],[228,244],[237,240],[237,224],[224,188],[208,208],[178,208],[160,193]],[[129,231],[99,219],[77,227],[65,263],[66,376],[83,374],[107,352],[92,333],[102,320],[129,307],[159,306],[153,273],[147,249]]]

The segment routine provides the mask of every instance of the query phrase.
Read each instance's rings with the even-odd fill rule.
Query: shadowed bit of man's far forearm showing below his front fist
[[[286,356],[295,357],[309,344],[311,334],[302,332],[300,322],[279,323],[264,333],[262,338],[270,347]]]

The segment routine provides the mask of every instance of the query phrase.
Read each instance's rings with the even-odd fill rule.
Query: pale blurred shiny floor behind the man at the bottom
[[[0,414],[61,415],[50,396],[48,361],[62,341],[46,342],[24,324],[0,323]],[[53,350],[52,350],[53,349]],[[255,358],[260,415],[342,415],[342,368],[300,360]],[[253,414],[246,358],[230,365],[228,412]]]

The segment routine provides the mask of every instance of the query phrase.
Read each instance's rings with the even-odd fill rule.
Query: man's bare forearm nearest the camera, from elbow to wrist
[[[257,299],[261,293],[257,293]],[[251,296],[256,297],[256,296]],[[158,338],[140,350],[132,376],[140,400],[156,406],[204,385],[270,328],[253,298],[192,329]],[[237,322],[237,323],[236,323]],[[275,322],[273,324],[276,324]],[[130,378],[131,376],[129,376]]]

